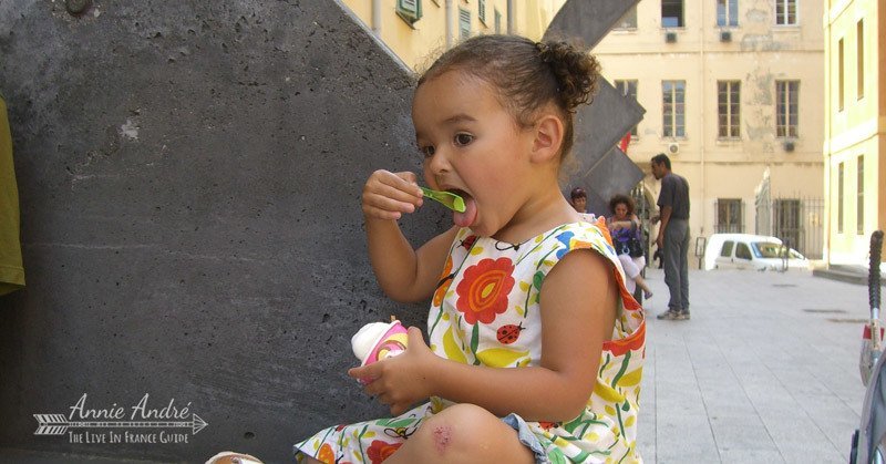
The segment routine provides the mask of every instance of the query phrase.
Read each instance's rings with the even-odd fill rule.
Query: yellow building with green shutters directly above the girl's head
[[[459,40],[515,33],[538,40],[566,0],[341,0],[409,68]]]

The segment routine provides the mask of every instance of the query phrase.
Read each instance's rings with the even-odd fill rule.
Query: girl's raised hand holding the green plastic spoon
[[[363,215],[375,219],[400,219],[422,206],[422,190],[415,173],[379,169],[363,186]]]

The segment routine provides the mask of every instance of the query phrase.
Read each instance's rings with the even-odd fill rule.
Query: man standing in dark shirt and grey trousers
[[[689,319],[689,183],[671,172],[671,161],[663,153],[652,157],[652,175],[661,181],[658,195],[661,226],[656,246],[663,255],[664,283],[671,293],[668,310],[658,318],[686,320]]]

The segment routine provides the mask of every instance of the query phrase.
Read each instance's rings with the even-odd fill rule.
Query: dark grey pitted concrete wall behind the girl
[[[0,298],[0,447],[282,462],[321,426],[385,414],[346,375],[350,337],[390,315],[423,326],[426,306],[378,289],[360,194],[420,157],[409,73],[358,24],[332,0],[0,2],[28,279]],[[449,224],[433,204],[403,220],[415,243]],[[145,395],[208,426],[34,434],[33,414],[140,421]]]

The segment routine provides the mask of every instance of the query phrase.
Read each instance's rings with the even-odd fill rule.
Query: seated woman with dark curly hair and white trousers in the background
[[[628,277],[628,291],[633,293],[633,290],[640,287],[643,298],[652,298],[652,290],[642,276],[646,256],[632,257],[628,248],[630,240],[638,239],[640,229],[640,218],[633,214],[633,200],[627,195],[616,195],[609,199],[609,210],[612,216],[606,219],[606,225],[609,227],[609,235],[612,237],[621,268]]]

